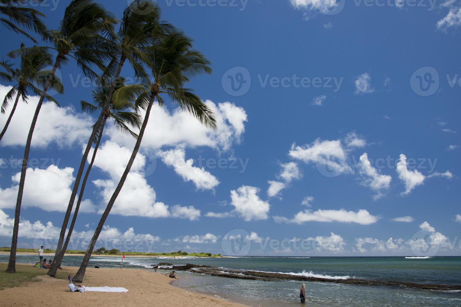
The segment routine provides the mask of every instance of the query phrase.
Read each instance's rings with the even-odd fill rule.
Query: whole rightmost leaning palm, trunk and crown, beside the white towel
[[[144,116],[144,121],[142,122],[142,127],[139,131],[136,145],[131,153],[130,160],[101,216],[85,256],[83,257],[82,264],[77,274],[72,279],[76,282],[83,281],[85,270],[88,266],[89,258],[93,252],[95,243],[124,185],[128,173],[130,172],[136,154],[139,151],[142,136],[146,130],[150,111],[154,104],[154,99],[157,99],[160,106],[164,106],[165,102],[160,94],[166,94],[172,101],[179,104],[184,111],[191,113],[201,123],[216,129],[213,111],[203,103],[197,95],[192,93],[191,89],[184,87],[191,77],[202,73],[210,74],[212,71],[208,59],[201,52],[192,49],[192,40],[182,32],[176,29],[170,29],[167,35],[158,35],[155,37],[154,44],[145,48],[144,51],[149,57],[148,63],[149,69],[151,70],[152,81],[146,81],[143,85],[130,86],[132,90],[130,93],[127,89],[121,88],[116,92],[116,95],[121,100],[130,101],[133,99],[132,92],[136,88],[140,93],[139,97],[136,99],[136,107],[146,110],[146,115]]]

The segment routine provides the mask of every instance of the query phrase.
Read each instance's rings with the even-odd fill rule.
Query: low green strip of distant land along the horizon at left
[[[92,254],[92,256],[108,256],[108,257],[117,257],[117,256],[130,256],[130,257],[203,257],[203,258],[219,258],[222,257],[221,254],[211,254],[211,253],[188,253],[185,251],[175,251],[175,252],[170,252],[170,253],[142,253],[142,252],[121,252],[118,249],[103,249],[99,250],[96,249],[95,253]],[[11,252],[11,249],[9,247],[0,247],[0,254],[9,254]],[[18,248],[16,250],[18,255],[38,255],[38,250],[37,249],[20,249]],[[44,255],[54,255],[56,253],[55,249],[44,249],[43,254]],[[71,250],[68,249],[65,251],[66,256],[76,256],[76,255],[85,255],[84,250]]]

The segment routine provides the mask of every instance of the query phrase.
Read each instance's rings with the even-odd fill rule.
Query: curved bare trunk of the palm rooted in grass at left
[[[19,231],[19,215],[21,213],[21,203],[23,201],[24,193],[24,182],[26,180],[26,171],[27,163],[29,162],[29,153],[30,153],[30,144],[32,143],[32,135],[34,134],[35,124],[37,123],[38,114],[40,113],[41,105],[45,99],[48,87],[51,86],[51,78],[54,78],[54,73],[61,63],[61,57],[58,55],[56,61],[54,62],[53,69],[51,70],[50,75],[48,76],[47,83],[43,90],[41,91],[40,99],[38,101],[37,107],[35,108],[34,117],[32,118],[32,123],[30,124],[29,134],[27,135],[27,141],[24,149],[24,158],[23,165],[21,167],[21,178],[19,180],[19,189],[18,189],[18,198],[16,200],[16,209],[14,211],[14,225],[13,225],[13,236],[11,239],[11,251],[10,251],[10,260],[8,261],[8,267],[6,272],[15,273],[16,272],[16,249],[18,247],[18,231]]]

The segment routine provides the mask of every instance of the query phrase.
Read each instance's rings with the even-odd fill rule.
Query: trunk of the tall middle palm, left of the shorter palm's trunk
[[[109,94],[107,96],[106,104],[104,105],[104,107],[102,109],[102,112],[101,112],[98,120],[95,123],[95,127],[93,128],[93,132],[91,133],[91,135],[89,137],[87,147],[85,149],[85,152],[83,153],[82,161],[80,162],[80,167],[78,168],[78,173],[77,173],[77,176],[75,178],[74,188],[72,189],[71,198],[69,199],[69,204],[67,205],[67,210],[66,210],[65,215],[64,215],[64,221],[62,223],[61,232],[59,233],[58,246],[56,247],[56,253],[54,254],[54,258],[59,258],[59,255],[61,253],[62,243],[64,241],[64,236],[65,236],[65,231],[67,229],[67,224],[69,223],[69,219],[71,217],[71,212],[72,212],[72,208],[74,206],[75,197],[77,196],[78,186],[80,185],[80,180],[81,180],[82,175],[83,175],[83,169],[85,168],[85,164],[86,164],[86,160],[87,160],[88,155],[89,155],[89,151],[91,150],[91,147],[93,146],[93,142],[95,140],[96,132],[98,131],[98,129],[99,129],[100,125],[101,125],[103,116],[104,116],[104,114],[106,114],[107,110],[109,110],[111,100],[112,100],[112,95],[113,95],[114,90],[115,90],[115,82],[117,81],[118,77],[120,76],[120,72],[122,71],[122,67],[123,67],[123,64],[125,62],[125,59],[126,58],[124,56],[120,57],[120,62],[118,63],[117,73],[116,73],[116,75],[114,77],[111,89],[110,89]],[[58,261],[56,261],[56,265],[54,265],[55,262],[53,261],[53,265],[51,267],[54,268],[54,269],[50,268],[50,270],[47,273],[51,277],[56,276],[56,270],[57,270],[57,267],[58,267],[57,262]]]

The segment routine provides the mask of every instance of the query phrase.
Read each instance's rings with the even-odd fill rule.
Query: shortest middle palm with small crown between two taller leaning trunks
[[[125,86],[124,85],[124,78],[120,78],[120,82],[121,82],[121,86],[116,86],[115,87],[116,90],[118,90],[119,88]],[[95,104],[90,104],[90,103],[82,100],[81,101],[82,110],[87,111],[89,113],[94,113],[96,110],[100,110],[102,112],[102,108],[104,107],[104,104],[106,103],[107,95],[109,93],[109,90],[110,90],[110,88],[100,84],[100,86],[95,91],[93,91],[93,100],[94,100]],[[141,119],[141,116],[139,115],[139,113],[130,112],[130,110],[132,110],[133,108],[134,108],[134,106],[130,102],[112,101],[111,106],[110,106],[110,110],[108,112],[106,112],[106,114],[103,117],[101,126],[100,126],[99,131],[98,131],[98,133],[96,135],[95,149],[93,151],[93,156],[91,157],[91,162],[89,163],[89,166],[88,166],[88,168],[86,170],[85,176],[83,177],[82,187],[80,188],[80,194],[78,195],[78,200],[77,200],[77,204],[75,206],[74,215],[72,217],[71,226],[69,226],[69,231],[67,232],[67,236],[65,238],[65,243],[64,243],[64,245],[62,247],[62,250],[61,250],[61,253],[60,253],[58,259],[56,259],[56,258],[54,259],[54,261],[58,261],[57,267],[61,265],[62,258],[64,257],[64,254],[65,254],[65,250],[67,249],[67,245],[69,244],[69,241],[71,239],[72,231],[73,231],[74,226],[75,226],[75,221],[77,220],[78,210],[80,209],[80,203],[82,203],[83,191],[85,190],[85,186],[86,186],[86,182],[88,180],[89,173],[90,173],[91,168],[93,167],[93,164],[95,162],[96,152],[98,151],[98,148],[99,148],[99,145],[100,145],[100,141],[101,141],[101,138],[102,138],[102,133],[104,131],[104,127],[106,125],[106,121],[109,118],[113,119],[114,125],[115,125],[115,127],[118,128],[119,131],[121,131],[123,133],[130,134],[131,136],[133,136],[136,139],[138,137],[138,135],[136,133],[134,133],[133,131],[131,131],[129,126],[139,129],[141,127],[142,119]]]

